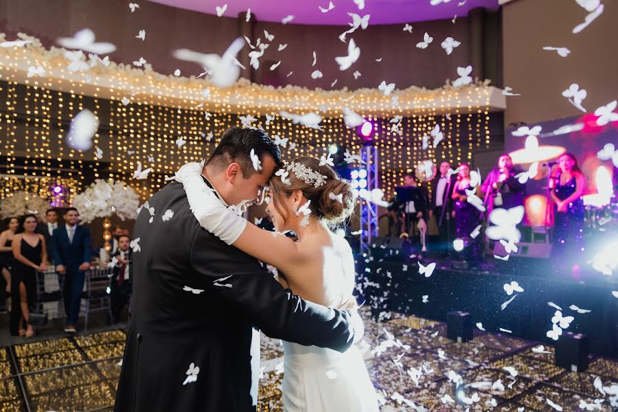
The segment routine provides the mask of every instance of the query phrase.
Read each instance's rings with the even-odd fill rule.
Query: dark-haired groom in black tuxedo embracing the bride
[[[266,133],[231,128],[203,176],[225,204],[239,205],[263,195],[280,164]],[[304,301],[255,258],[201,228],[180,183],[148,203],[152,223],[142,209],[133,231],[133,317],[115,412],[255,411],[260,353],[251,344],[253,326],[273,338],[340,352],[360,339],[356,311]],[[168,210],[174,215],[163,221]]]

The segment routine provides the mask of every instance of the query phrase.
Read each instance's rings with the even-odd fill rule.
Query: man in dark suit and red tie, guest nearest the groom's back
[[[125,235],[118,237],[118,251],[112,255],[117,259],[113,275],[110,279],[110,296],[112,323],[120,319],[120,313],[129,301],[133,288],[131,258],[133,251],[129,248],[130,238]]]

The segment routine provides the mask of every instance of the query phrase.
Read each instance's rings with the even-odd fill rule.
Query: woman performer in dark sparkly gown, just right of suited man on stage
[[[461,163],[459,165],[459,174],[457,175],[457,181],[455,183],[455,189],[451,198],[455,201],[455,210],[453,216],[455,217],[455,238],[467,240],[469,242],[469,251],[466,251],[466,255],[472,263],[477,263],[481,258],[481,247],[476,239],[472,239],[470,233],[481,224],[481,217],[479,210],[468,202],[468,193],[466,190],[474,190],[474,187],[470,185],[470,165],[468,163]]]

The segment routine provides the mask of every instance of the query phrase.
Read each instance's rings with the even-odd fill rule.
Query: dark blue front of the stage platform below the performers
[[[419,273],[417,259],[393,262],[357,258],[357,284],[374,319],[389,311],[446,321],[453,310],[470,312],[485,330],[512,331],[511,336],[553,344],[547,338],[556,308],[573,316],[567,329],[586,334],[591,352],[618,355],[618,276],[591,271],[556,274],[549,260],[512,258],[509,262],[485,260],[474,269],[457,269],[461,262],[424,257],[426,266],[436,262],[430,277]],[[518,282],[523,292],[507,295],[504,285]],[[423,296],[426,298],[423,299]],[[503,310],[501,305],[517,295]],[[569,306],[590,310],[578,313]]]

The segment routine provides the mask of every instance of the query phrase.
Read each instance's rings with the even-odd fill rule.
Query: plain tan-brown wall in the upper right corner
[[[503,6],[504,84],[520,96],[507,98],[505,124],[528,124],[581,115],[562,91],[571,83],[588,91],[583,106],[594,112],[618,96],[618,3],[604,1],[604,13],[572,34],[588,12],[575,1],[517,0]],[[567,47],[566,58],[542,47]]]

